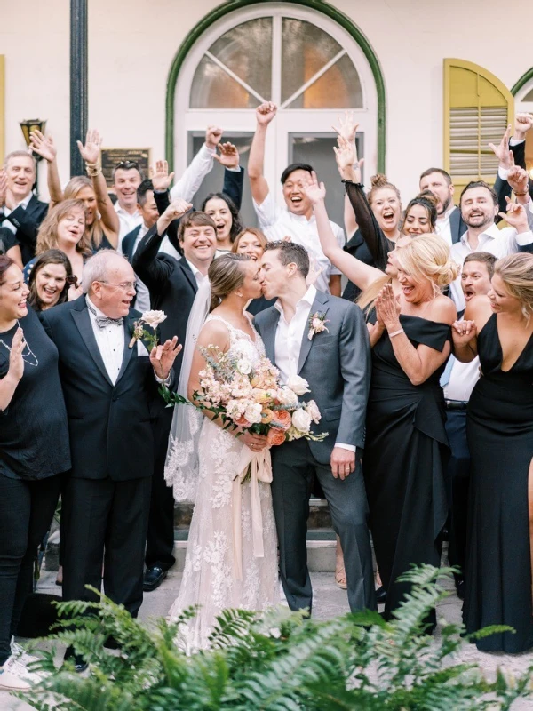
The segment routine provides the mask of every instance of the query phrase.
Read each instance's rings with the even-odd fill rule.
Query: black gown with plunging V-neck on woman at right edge
[[[468,632],[509,625],[482,651],[533,647],[528,475],[533,458],[533,336],[510,371],[494,314],[478,335],[483,373],[467,413],[472,456],[464,619]]]

